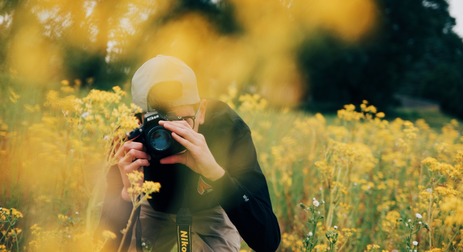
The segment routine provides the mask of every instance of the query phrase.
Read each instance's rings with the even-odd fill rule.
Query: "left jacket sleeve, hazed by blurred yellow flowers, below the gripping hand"
[[[101,235],[104,230],[109,230],[116,234],[116,239],[108,240],[102,251],[117,251],[119,244],[122,240],[122,233],[120,232],[127,225],[130,213],[132,211],[132,202],[127,202],[122,199],[121,191],[124,188],[122,178],[120,177],[119,168],[117,165],[110,168],[108,175],[106,176],[107,188],[105,193],[105,199],[101,209],[100,223],[96,228],[94,234],[94,240],[104,241],[105,239]],[[132,221],[133,222],[133,221]],[[127,236],[131,238],[131,231],[129,229]],[[127,251],[130,242],[125,246],[122,251]]]

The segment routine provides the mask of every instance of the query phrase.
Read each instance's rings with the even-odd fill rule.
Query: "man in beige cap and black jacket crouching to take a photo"
[[[109,229],[117,234],[106,249],[117,250],[122,239],[120,230],[132,208],[126,174],[139,170],[144,180],[161,183],[160,191],[141,207],[144,248],[172,250],[178,238],[175,214],[185,199],[193,215],[192,251],[238,252],[242,239],[257,252],[275,251],[280,228],[250,129],[238,114],[222,101],[200,100],[193,70],[170,56],[158,55],[137,70],[132,97],[144,112],[156,109],[185,117],[159,124],[187,150],[153,160],[141,143],[129,141],[119,148],[119,169],[114,167],[108,174],[96,233]],[[128,231],[124,251],[136,251],[134,229]]]

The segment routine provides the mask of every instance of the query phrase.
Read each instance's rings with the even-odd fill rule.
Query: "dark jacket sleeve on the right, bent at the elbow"
[[[220,206],[248,246],[256,252],[274,252],[280,244],[280,227],[250,130],[243,121],[240,124],[244,126],[234,134],[223,167],[225,175],[210,183]]]

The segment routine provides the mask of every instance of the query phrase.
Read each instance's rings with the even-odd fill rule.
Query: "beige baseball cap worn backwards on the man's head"
[[[148,93],[156,84],[162,82],[180,83],[178,96],[170,101],[171,107],[199,103],[200,96],[193,70],[176,57],[162,54],[145,62],[132,78],[132,100],[144,112],[155,108],[148,103]]]

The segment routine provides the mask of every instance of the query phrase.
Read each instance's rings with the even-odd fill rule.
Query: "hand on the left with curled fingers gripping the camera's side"
[[[122,198],[126,201],[131,201],[127,189],[130,188],[130,181],[127,177],[127,173],[131,173],[134,170],[143,172],[144,166],[149,166],[151,160],[150,155],[146,154],[146,148],[142,143],[138,142],[125,142],[122,147],[116,152],[116,159],[119,160],[118,166],[122,182],[124,183],[124,189],[122,189]],[[143,181],[140,181],[143,183]]]

